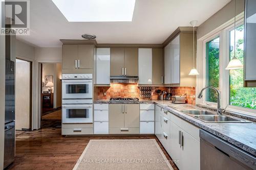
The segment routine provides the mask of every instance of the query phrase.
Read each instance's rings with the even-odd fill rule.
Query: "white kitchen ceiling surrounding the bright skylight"
[[[191,20],[198,20],[199,26],[228,2],[136,0],[132,22],[68,22],[51,0],[32,0],[30,35],[17,39],[40,47],[58,47],[59,39],[82,39],[82,34],[90,33],[97,36],[98,43],[162,43],[177,27],[190,26]]]

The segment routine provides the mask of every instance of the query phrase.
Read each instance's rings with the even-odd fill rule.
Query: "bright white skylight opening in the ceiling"
[[[136,0],[52,0],[70,22],[132,21]]]

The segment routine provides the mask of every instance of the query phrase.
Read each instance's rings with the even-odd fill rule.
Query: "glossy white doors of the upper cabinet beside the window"
[[[180,83],[180,35],[164,48],[164,84]]]

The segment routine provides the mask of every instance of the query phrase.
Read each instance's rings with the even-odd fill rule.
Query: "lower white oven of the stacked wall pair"
[[[62,123],[93,123],[93,104],[62,104]]]

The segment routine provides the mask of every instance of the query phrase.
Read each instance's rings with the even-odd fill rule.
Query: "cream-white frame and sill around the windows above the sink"
[[[244,24],[244,14],[241,13],[237,16],[236,27],[240,27]],[[206,60],[207,60],[207,45],[206,43],[210,40],[220,37],[220,80],[219,80],[219,90],[221,92],[221,107],[226,108],[226,111],[235,113],[235,114],[244,114],[256,117],[256,110],[243,108],[239,106],[232,106],[229,104],[230,93],[229,93],[229,71],[226,70],[226,66],[229,63],[229,46],[230,46],[230,36],[229,32],[234,28],[234,20],[230,19],[223,25],[219,26],[215,30],[212,30],[210,33],[201,37],[197,40],[197,69],[200,72],[200,75],[197,76],[197,87],[196,93],[199,94],[202,88],[206,86]],[[197,95],[196,95],[197,96]],[[196,98],[196,104],[202,104],[209,107],[217,108],[217,103],[206,101],[206,90],[203,92],[203,98]]]

